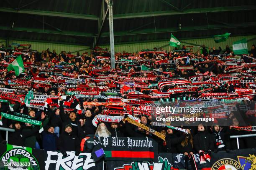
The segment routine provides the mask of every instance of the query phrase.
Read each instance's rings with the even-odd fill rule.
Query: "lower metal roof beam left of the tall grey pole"
[[[96,37],[93,33],[84,33],[77,31],[54,31],[54,30],[43,30],[38,28],[21,28],[21,27],[5,27],[0,26],[0,30],[8,30],[8,31],[19,31],[19,32],[35,32],[35,33],[44,33],[44,34],[55,34],[55,35],[70,35],[70,36],[79,36],[79,37]]]

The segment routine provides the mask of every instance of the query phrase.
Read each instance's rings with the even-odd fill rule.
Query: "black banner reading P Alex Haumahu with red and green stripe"
[[[152,161],[158,152],[158,145],[151,138],[98,138],[105,153],[105,160]]]

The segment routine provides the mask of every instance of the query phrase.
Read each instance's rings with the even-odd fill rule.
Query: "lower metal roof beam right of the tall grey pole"
[[[196,31],[196,30],[216,30],[224,28],[244,28],[244,27],[256,27],[256,22],[250,23],[239,23],[239,24],[230,24],[230,25],[200,25],[200,26],[189,26],[183,27],[181,30],[177,28],[157,28],[155,29],[144,29],[134,32],[115,32],[114,36],[127,36],[127,35],[142,35],[142,34],[155,34],[155,33],[164,33],[164,32],[184,32],[184,31]],[[103,32],[102,37],[109,37],[108,32]]]

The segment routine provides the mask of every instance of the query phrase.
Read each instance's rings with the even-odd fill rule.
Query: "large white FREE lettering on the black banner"
[[[50,164],[56,164],[55,170],[59,170],[61,168],[65,170],[77,170],[80,167],[83,168],[83,170],[87,170],[91,167],[95,166],[94,160],[91,158],[91,153],[80,153],[79,156],[75,156],[74,152],[67,151],[67,157],[63,158],[62,153],[58,152],[47,152],[47,160],[45,163],[45,169],[50,170],[52,168],[50,167]],[[58,156],[57,160],[52,160],[52,156]],[[79,158],[83,156],[82,158]],[[84,159],[85,157],[85,159]]]

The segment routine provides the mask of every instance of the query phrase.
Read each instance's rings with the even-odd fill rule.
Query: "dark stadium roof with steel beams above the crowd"
[[[255,0],[113,0],[114,41],[167,40],[171,32],[179,39],[255,35],[255,10]],[[3,0],[0,37],[108,44],[106,11],[104,0]]]

